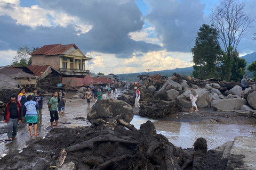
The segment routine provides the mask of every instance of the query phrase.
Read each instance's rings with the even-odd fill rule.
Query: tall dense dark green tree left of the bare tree
[[[197,33],[195,47],[191,49],[195,63],[193,76],[200,79],[218,77],[218,64],[221,62],[221,48],[218,31],[203,24]]]

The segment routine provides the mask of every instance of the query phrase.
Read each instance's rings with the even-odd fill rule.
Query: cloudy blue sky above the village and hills
[[[256,16],[256,0],[235,0]],[[91,72],[134,73],[193,66],[191,48],[220,0],[0,0],[0,66],[21,46],[76,44]],[[256,23],[238,46],[256,51]],[[191,43],[190,43],[191,42]]]

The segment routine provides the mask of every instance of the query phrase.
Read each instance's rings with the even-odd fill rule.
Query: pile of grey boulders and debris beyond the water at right
[[[155,84],[140,84],[141,92],[139,114],[141,116],[160,118],[167,117],[183,108],[190,108],[191,89],[195,89],[198,108],[213,107],[219,111],[256,109],[256,92],[247,88],[242,99],[242,88],[239,83],[219,82],[214,80],[194,81],[174,73],[172,79]],[[252,83],[251,83],[252,84]],[[253,84],[256,90],[256,85]],[[158,89],[158,90],[157,90]],[[134,104],[134,92],[124,94],[119,99],[130,105]]]

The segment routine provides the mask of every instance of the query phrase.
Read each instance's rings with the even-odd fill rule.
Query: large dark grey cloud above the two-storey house
[[[133,52],[161,49],[158,45],[134,41],[128,33],[141,30],[142,14],[134,1],[41,1],[42,7],[77,16],[93,28],[77,36],[75,25],[36,27],[17,24],[10,16],[0,16],[0,50],[18,46],[41,47],[45,44],[75,43],[84,53],[97,51],[130,57]],[[11,6],[9,6],[11,7]]]

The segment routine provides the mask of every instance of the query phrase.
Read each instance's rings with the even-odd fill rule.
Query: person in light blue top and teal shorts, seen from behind
[[[32,100],[33,97],[31,95],[28,95],[27,102],[24,104],[26,107],[26,122],[28,123],[28,129],[30,132],[30,137],[33,136],[32,133],[32,124],[34,124],[34,135],[37,136],[39,133],[37,130],[37,112],[36,112],[36,101]]]

